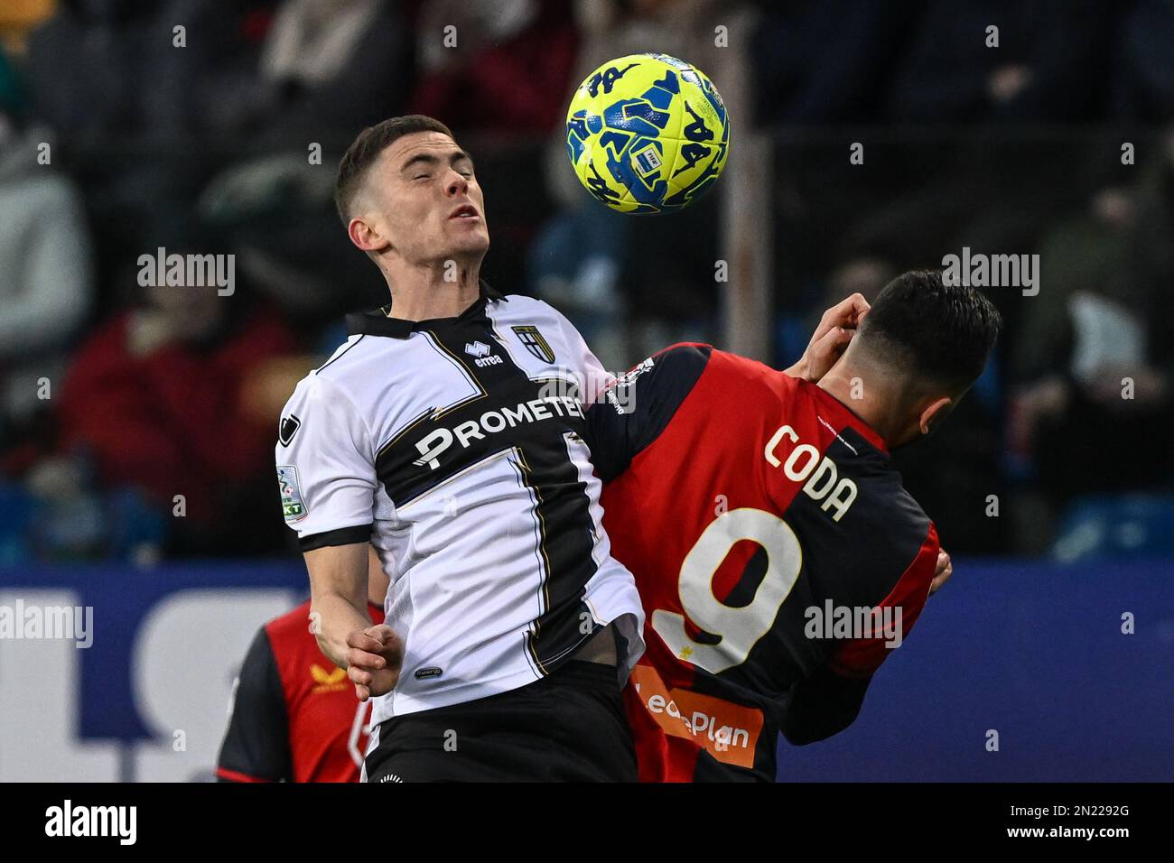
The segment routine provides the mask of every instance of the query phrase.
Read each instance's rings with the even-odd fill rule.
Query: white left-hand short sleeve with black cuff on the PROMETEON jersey
[[[303,552],[371,537],[375,452],[351,399],[329,379],[302,380],[282,411],[277,488]]]

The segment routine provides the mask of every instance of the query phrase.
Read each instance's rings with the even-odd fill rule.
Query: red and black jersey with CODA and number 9
[[[903,638],[925,602],[933,524],[849,407],[709,345],[637,365],[588,429],[646,613],[626,690],[641,778],[772,781],[780,733],[808,743],[856,719],[898,641],[883,615]],[[875,628],[825,628],[844,614]]]

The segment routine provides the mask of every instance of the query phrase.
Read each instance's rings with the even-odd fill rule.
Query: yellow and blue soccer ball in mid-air
[[[567,110],[567,155],[587,191],[620,213],[673,213],[721,176],[730,124],[717,88],[668,54],[603,63]]]

